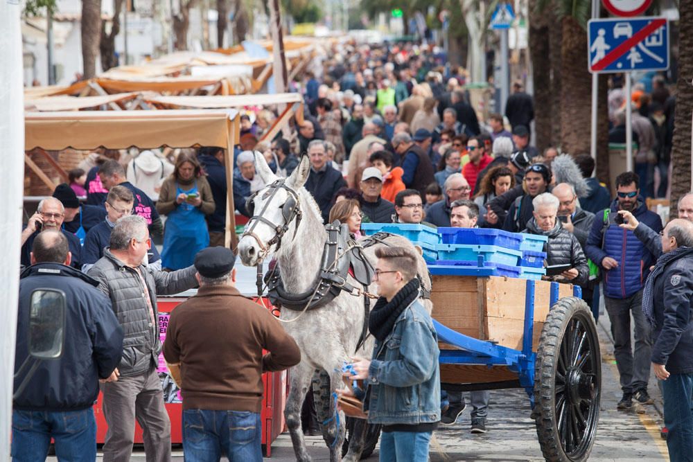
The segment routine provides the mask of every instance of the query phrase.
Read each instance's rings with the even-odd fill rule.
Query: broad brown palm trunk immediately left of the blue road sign
[[[592,75],[585,64],[587,33],[572,17],[563,17],[561,24],[561,150],[570,154],[590,152]]]

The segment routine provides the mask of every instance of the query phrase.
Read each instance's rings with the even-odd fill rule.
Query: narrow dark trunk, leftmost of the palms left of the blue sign
[[[551,107],[551,57],[549,25],[545,13],[536,10],[536,0],[529,2],[529,55],[532,59],[534,80],[534,107]],[[548,8],[545,8],[547,10]],[[538,110],[534,114],[536,138],[534,143],[539,152],[552,145],[551,124],[554,114]]]

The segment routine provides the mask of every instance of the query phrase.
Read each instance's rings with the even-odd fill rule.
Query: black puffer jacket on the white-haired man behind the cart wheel
[[[534,218],[527,223],[527,229],[523,233],[537,234],[539,236],[547,236],[549,238],[546,243],[546,264],[565,265],[570,263],[570,266],[577,269],[577,278],[574,278],[570,283],[584,285],[587,283],[590,270],[587,266],[587,258],[582,251],[577,238],[572,235],[567,229],[561,226],[561,222],[556,220],[556,225],[550,231],[543,231],[536,225]]]

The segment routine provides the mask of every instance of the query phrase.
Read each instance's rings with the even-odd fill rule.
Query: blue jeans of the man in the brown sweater
[[[183,411],[183,453],[188,462],[261,462],[260,414],[247,411]]]

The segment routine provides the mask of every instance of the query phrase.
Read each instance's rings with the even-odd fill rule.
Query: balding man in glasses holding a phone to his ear
[[[36,213],[31,215],[26,227],[21,231],[21,258],[20,263],[24,266],[31,265],[31,247],[34,239],[41,231],[46,229],[60,230],[67,238],[67,243],[72,254],[70,266],[80,269],[82,267],[82,246],[80,240],[73,233],[62,229],[62,222],[65,219],[65,208],[55,197],[46,197],[36,209]]]

